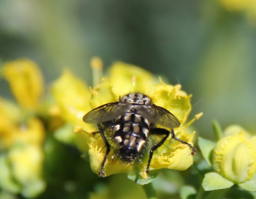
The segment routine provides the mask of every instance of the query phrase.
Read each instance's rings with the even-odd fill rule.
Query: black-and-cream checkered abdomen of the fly
[[[149,121],[140,114],[128,112],[114,123],[114,140],[120,155],[133,160],[142,151],[149,135]]]

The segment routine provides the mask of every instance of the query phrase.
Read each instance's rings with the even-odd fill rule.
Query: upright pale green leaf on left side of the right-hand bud
[[[212,166],[212,151],[215,147],[215,142],[206,140],[204,138],[198,138],[198,146],[202,152],[204,159],[206,159],[207,163]]]

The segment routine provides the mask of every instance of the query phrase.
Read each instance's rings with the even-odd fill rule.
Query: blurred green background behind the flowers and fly
[[[0,0],[1,63],[31,58],[48,85],[64,68],[92,85],[90,59],[95,55],[102,58],[105,71],[114,61],[123,61],[180,83],[193,94],[191,118],[204,113],[194,123],[200,136],[214,139],[213,119],[222,127],[235,123],[256,132],[253,0]],[[0,95],[13,100],[3,79]],[[78,151],[56,144],[62,152],[48,160],[56,164],[39,198],[131,198],[137,189],[133,193],[145,197],[123,175],[99,179]],[[65,162],[63,151],[70,158]],[[170,174],[178,183],[182,175]],[[173,193],[178,189],[171,187]],[[166,189],[169,193],[170,187]]]

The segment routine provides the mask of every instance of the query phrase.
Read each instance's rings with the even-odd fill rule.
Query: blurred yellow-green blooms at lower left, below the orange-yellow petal
[[[1,135],[2,147],[6,155],[2,156],[2,161],[8,162],[9,167],[0,164],[0,186],[9,191],[17,192],[11,188],[11,179],[14,184],[20,187],[19,192],[25,197],[34,197],[45,189],[45,182],[42,178],[43,172],[43,142],[44,127],[37,118],[31,118],[27,124],[19,125],[10,121],[11,128],[8,128],[5,135]],[[0,129],[1,132],[2,129]],[[5,171],[10,173],[5,177]],[[7,178],[7,180],[6,180]]]

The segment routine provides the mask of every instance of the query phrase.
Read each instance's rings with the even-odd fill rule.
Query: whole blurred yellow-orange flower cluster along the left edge
[[[28,59],[7,62],[2,75],[19,106],[0,98],[0,186],[34,197],[45,189],[42,178],[44,126],[31,112],[38,107],[43,78]]]

